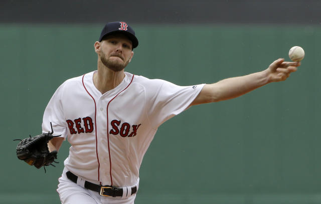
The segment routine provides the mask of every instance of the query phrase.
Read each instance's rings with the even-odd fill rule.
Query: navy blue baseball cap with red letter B
[[[106,24],[101,31],[99,42],[101,42],[105,36],[108,36],[114,33],[122,33],[126,35],[129,38],[129,40],[132,42],[132,48],[136,48],[138,46],[138,40],[135,37],[134,30],[130,26],[128,26],[126,22],[111,22]]]

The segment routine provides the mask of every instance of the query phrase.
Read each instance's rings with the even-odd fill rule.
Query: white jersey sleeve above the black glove
[[[62,95],[64,90],[64,84],[62,84],[51,97],[43,116],[42,131],[43,133],[51,132],[50,123],[54,131],[53,135],[61,135],[66,139],[67,126],[62,107]]]

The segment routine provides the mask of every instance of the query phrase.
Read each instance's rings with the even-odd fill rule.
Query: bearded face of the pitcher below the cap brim
[[[98,54],[106,67],[119,72],[128,65],[133,56],[132,42],[122,34],[110,35],[101,41]]]

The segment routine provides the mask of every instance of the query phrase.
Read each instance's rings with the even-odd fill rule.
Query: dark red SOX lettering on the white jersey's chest
[[[112,120],[110,122],[112,129],[109,131],[109,134],[113,134],[113,135],[117,135],[120,134],[120,136],[122,137],[133,137],[137,134],[137,129],[138,127],[141,125],[130,125],[127,122],[124,122],[121,124],[120,126],[120,130],[119,130],[119,125],[120,125],[121,121],[120,120]],[[131,132],[130,132],[131,130]],[[130,132],[130,134],[129,134]]]

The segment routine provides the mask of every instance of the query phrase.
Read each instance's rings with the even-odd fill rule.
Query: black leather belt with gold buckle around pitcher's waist
[[[67,175],[67,178],[69,178],[73,182],[77,183],[78,176],[76,176],[75,174],[73,174],[70,171],[67,171],[66,175]],[[99,192],[99,194],[102,196],[113,196],[113,197],[120,196],[120,197],[122,197],[122,194],[123,194],[122,188],[113,187],[110,185],[97,185],[97,184],[89,182],[89,181],[85,181],[85,188]],[[137,191],[136,186],[131,187],[131,194],[130,195],[134,194],[136,191]]]

